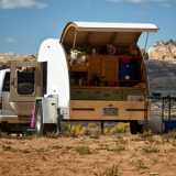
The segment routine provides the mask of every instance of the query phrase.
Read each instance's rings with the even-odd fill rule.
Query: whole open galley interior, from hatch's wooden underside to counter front
[[[123,101],[131,95],[146,95],[144,63],[136,44],[140,31],[73,29],[63,41],[70,100]]]

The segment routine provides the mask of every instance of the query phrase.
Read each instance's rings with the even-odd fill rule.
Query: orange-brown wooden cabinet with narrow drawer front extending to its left
[[[86,85],[99,86],[103,80],[107,86],[117,86],[119,78],[119,57],[116,55],[88,55],[87,63],[73,65],[70,72],[87,73]]]

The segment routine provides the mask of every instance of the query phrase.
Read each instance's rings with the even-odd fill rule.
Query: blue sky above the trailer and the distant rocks
[[[69,21],[155,23],[150,46],[176,40],[176,0],[0,0],[0,53],[37,53]]]

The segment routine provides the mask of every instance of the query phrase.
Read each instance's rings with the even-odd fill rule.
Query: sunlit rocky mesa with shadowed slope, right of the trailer
[[[176,96],[176,41],[160,41],[148,50],[147,73],[152,92]]]

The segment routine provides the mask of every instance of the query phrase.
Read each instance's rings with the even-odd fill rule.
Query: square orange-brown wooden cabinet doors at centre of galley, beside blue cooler
[[[118,86],[119,58],[113,55],[88,56],[88,85],[98,87]]]

